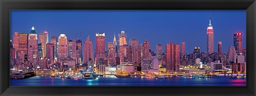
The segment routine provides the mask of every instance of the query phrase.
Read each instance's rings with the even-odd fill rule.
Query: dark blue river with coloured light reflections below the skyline
[[[99,76],[95,80],[61,79],[60,77],[34,76],[10,81],[11,86],[246,86],[245,76],[212,76],[211,78],[168,76],[167,78],[117,78]]]

